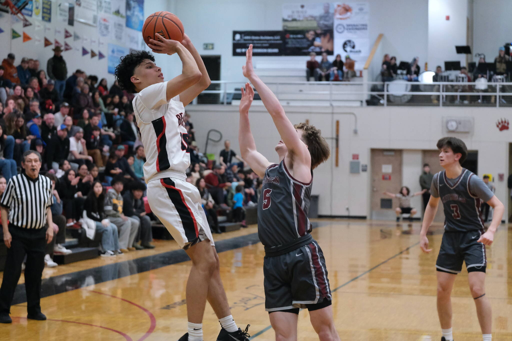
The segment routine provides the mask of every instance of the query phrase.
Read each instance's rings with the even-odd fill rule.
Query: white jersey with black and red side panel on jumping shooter
[[[135,95],[133,110],[144,145],[144,180],[184,180],[190,166],[185,108],[179,96],[167,102],[167,82],[150,85]]]

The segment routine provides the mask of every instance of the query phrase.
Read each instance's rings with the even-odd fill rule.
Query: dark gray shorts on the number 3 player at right
[[[485,272],[487,257],[485,245],[477,242],[482,231],[444,232],[441,249],[437,256],[437,271],[459,274],[462,263],[466,263],[467,272]]]

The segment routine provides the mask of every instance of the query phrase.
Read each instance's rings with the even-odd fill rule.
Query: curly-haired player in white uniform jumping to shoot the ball
[[[186,182],[190,155],[184,106],[208,87],[210,79],[187,35],[182,42],[156,37],[161,41],[151,39],[148,46],[155,53],[178,54],[181,75],[164,81],[154,56],[136,51],[121,59],[115,76],[122,89],[136,94],[133,109],[146,152],[144,179],[151,210],[192,260],[186,286],[188,333],[180,341],[203,340],[206,300],[222,326],[217,341],[248,341],[248,328],[242,331],[231,316],[201,196]]]

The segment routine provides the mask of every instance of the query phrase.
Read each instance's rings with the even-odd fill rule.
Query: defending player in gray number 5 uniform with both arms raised
[[[293,126],[279,100],[255,75],[252,44],[243,74],[254,85],[281,135],[275,146],[280,163],[259,153],[249,125],[254,90],[245,84],[240,102],[239,143],[242,158],[263,178],[258,203],[258,236],[265,246],[263,263],[265,310],[277,341],[297,339],[299,308],[307,308],[320,340],[339,340],[332,315],[332,295],[324,255],[311,236],[308,219],[313,169],[329,158],[320,130],[305,123]]]

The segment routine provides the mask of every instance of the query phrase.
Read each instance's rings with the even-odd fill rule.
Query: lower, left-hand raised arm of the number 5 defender
[[[240,127],[238,130],[238,143],[240,144],[240,153],[244,161],[247,162],[249,167],[251,167],[258,176],[263,178],[265,170],[272,163],[256,150],[256,143],[254,142],[249,123],[249,108],[251,107],[253,97],[254,90],[249,83],[246,83],[245,91],[244,88],[242,88],[242,100],[239,106]]]

